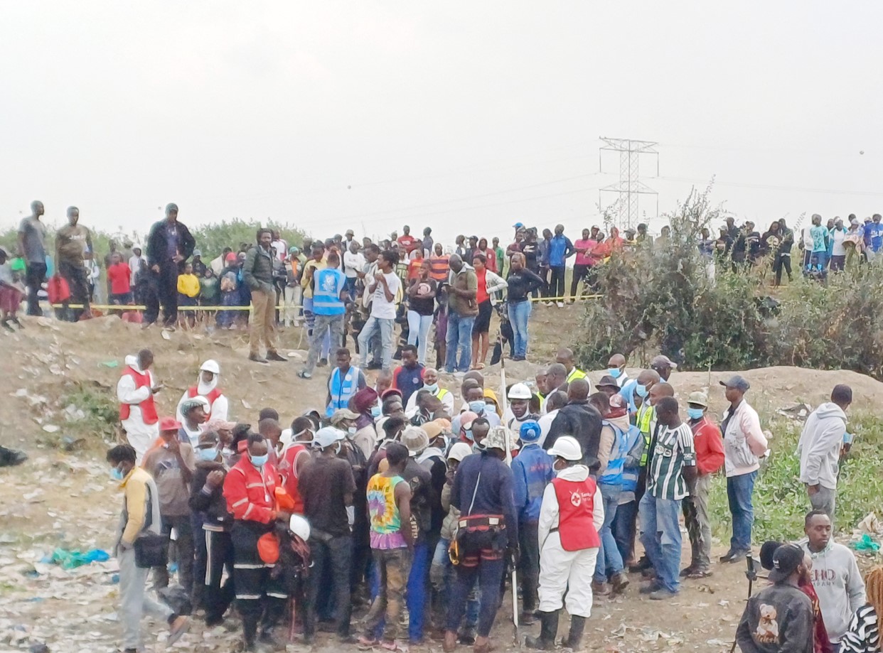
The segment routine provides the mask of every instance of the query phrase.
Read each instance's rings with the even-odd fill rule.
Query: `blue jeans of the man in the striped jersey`
[[[669,592],[676,592],[681,573],[681,499],[658,499],[645,494],[638,506],[638,516],[641,544],[653,563],[656,580]]]

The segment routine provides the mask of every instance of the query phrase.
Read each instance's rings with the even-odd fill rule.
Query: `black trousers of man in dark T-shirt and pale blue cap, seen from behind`
[[[315,533],[313,533],[315,534]],[[313,568],[310,570],[312,582],[309,584],[309,610],[306,619],[309,621],[310,632],[314,632],[316,625],[316,607],[319,604],[319,592],[323,573],[328,567],[331,576],[331,591],[335,606],[336,632],[341,637],[350,634],[350,618],[352,604],[350,600],[350,568],[352,554],[352,538],[348,535],[341,537],[310,537],[310,554],[313,558]],[[238,588],[237,588],[238,592]]]

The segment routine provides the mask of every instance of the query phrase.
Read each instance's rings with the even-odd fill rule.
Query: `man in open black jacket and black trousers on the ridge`
[[[190,230],[177,221],[177,204],[167,205],[165,220],[155,222],[147,236],[147,266],[156,292],[147,293],[144,328],[156,321],[161,303],[165,326],[177,322],[177,275],[195,246]]]

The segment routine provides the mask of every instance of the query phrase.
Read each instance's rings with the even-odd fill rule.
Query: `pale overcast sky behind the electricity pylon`
[[[146,230],[177,202],[314,236],[600,221],[600,136],[645,184],[782,215],[883,212],[879,0],[3,3],[0,228]],[[864,154],[859,154],[864,151]],[[642,214],[656,200],[642,198]],[[653,224],[658,231],[659,223]]]

